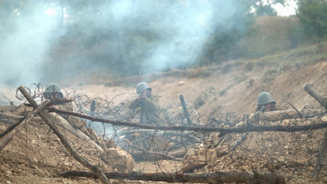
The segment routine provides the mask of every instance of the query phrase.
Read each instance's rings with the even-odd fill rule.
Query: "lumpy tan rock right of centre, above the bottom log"
[[[180,171],[189,172],[193,171],[194,169],[202,168],[207,164],[215,163],[215,158],[217,157],[215,150],[199,148],[193,155],[193,151],[190,151],[190,153],[189,151],[188,154],[186,154],[182,159],[182,164],[179,169]]]

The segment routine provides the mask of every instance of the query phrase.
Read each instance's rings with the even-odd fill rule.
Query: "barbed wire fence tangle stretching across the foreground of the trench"
[[[25,88],[38,103],[44,100],[40,84]],[[128,108],[129,101],[136,96],[135,94],[120,94],[113,99],[101,101],[76,95],[75,92],[66,94],[65,97],[74,99],[74,112],[79,114],[77,117],[86,121],[86,127],[95,130],[98,137],[81,139],[71,135],[72,133],[76,135],[77,129],[74,133],[64,126],[61,127],[62,132],[69,137],[69,141],[81,155],[99,166],[104,173],[125,173],[107,175],[108,178],[120,179],[123,182],[156,179],[167,182],[254,182],[258,178],[263,182],[268,178],[262,173],[277,175],[278,171],[284,173],[284,177],[278,176],[277,179],[285,178],[290,183],[302,180],[303,183],[307,183],[316,167],[317,154],[324,141],[324,128],[327,122],[322,120],[326,113],[324,107],[314,109],[306,106],[295,112],[301,113],[301,116],[299,114],[294,116],[294,110],[285,110],[284,113],[274,116],[274,119],[261,116],[261,113],[236,116],[232,111],[220,113],[217,117],[194,116],[191,117],[194,126],[188,124],[184,113],[167,114],[162,110],[158,114],[165,117],[163,122],[165,126],[140,125],[138,111]],[[18,89],[16,97],[26,101]],[[115,98],[119,97],[123,97],[124,100],[114,104]],[[90,118],[85,119],[82,115]],[[94,120],[110,120],[112,123]],[[60,127],[60,124],[58,125]],[[57,146],[58,141],[53,141],[58,140],[56,134],[50,133],[51,129],[46,124],[34,122],[32,126],[36,128],[33,132],[39,132],[35,133],[36,135],[48,131],[46,144]],[[25,131],[28,133],[31,129],[26,128]],[[90,140],[99,147],[91,144]],[[31,143],[32,140],[26,135],[27,155]],[[126,154],[120,155],[121,149],[131,155],[132,163],[125,159]],[[104,152],[108,156],[108,151],[114,152],[115,162],[104,158],[106,156]],[[46,160],[41,149],[38,150],[38,154],[41,160]],[[95,177],[85,172],[85,166],[76,162],[66,149],[56,150],[54,154],[60,156],[61,164],[58,164],[60,167],[56,171],[63,173],[62,176]],[[122,167],[125,167],[125,170]],[[54,174],[55,171],[46,168],[43,167],[43,170]],[[229,175],[235,171],[239,172],[236,173],[238,177],[246,178],[240,179]],[[260,171],[262,178],[256,175],[256,171]],[[132,177],[126,173],[131,173]],[[137,175],[140,173],[152,175],[141,177]],[[160,175],[162,173],[163,176]],[[191,174],[188,175],[189,180],[181,177],[179,173]],[[192,178],[192,174],[197,179]],[[326,175],[327,169],[323,167],[317,180],[312,182],[326,182]]]

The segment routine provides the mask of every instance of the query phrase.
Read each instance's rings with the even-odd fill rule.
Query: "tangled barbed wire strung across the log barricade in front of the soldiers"
[[[26,87],[33,98],[39,98],[42,101],[42,85],[33,84]],[[67,94],[67,93],[66,93]],[[17,99],[23,101],[24,96],[16,92]],[[114,104],[113,99],[97,100],[89,99],[87,96],[79,96],[75,93],[68,93],[65,97],[73,98],[75,111],[92,115],[97,118],[109,119],[112,121],[125,121],[130,123],[139,122],[139,111],[131,110],[128,102],[135,95],[126,93],[116,95],[114,98],[125,97],[121,103]],[[91,103],[95,101],[94,113],[91,113]],[[26,109],[29,110],[29,109]],[[305,106],[302,110],[301,118],[294,117],[294,113],[285,110],[285,113],[278,114],[275,119],[269,117],[256,117],[255,114],[243,114],[236,116],[236,113],[229,111],[219,113],[217,117],[192,117],[196,122],[195,126],[216,128],[235,128],[253,127],[262,128],[269,126],[285,127],[289,131],[279,131],[278,129],[270,131],[252,131],[248,128],[242,132],[230,132],[223,134],[211,131],[189,131],[189,130],[160,130],[144,129],[138,127],[110,125],[102,122],[92,122],[88,120],[86,128],[92,128],[96,131],[98,137],[91,139],[80,139],[72,132],[61,128],[65,136],[69,137],[76,150],[85,157],[95,162],[106,172],[117,171],[112,163],[103,159],[103,153],[108,150],[119,150],[120,148],[133,157],[135,163],[131,165],[130,171],[141,173],[195,173],[206,176],[208,173],[242,171],[253,172],[260,170],[262,172],[273,172],[274,170],[285,173],[285,179],[289,182],[295,182],[302,179],[303,182],[309,181],[310,174],[317,161],[317,153],[323,141],[323,132],[325,127],[310,128],[308,130],[295,129],[294,126],[312,126],[321,123],[321,117],[325,116],[326,109],[314,109],[311,106]],[[297,112],[297,113],[298,113]],[[187,126],[185,115],[180,112],[167,114],[160,110],[157,114],[164,117],[162,124],[167,126]],[[0,119],[1,121],[2,119]],[[240,125],[242,123],[242,126]],[[31,128],[33,127],[33,128]],[[55,134],[46,127],[44,122],[33,122],[31,127],[25,129],[25,155],[33,163],[31,153],[35,147],[32,144],[48,145],[58,147],[60,141]],[[236,129],[237,130],[237,129]],[[76,130],[78,131],[78,130]],[[44,133],[45,132],[45,133]],[[42,138],[43,135],[46,138]],[[74,133],[73,133],[74,134]],[[31,136],[30,136],[31,135]],[[36,138],[35,138],[36,137]],[[31,140],[33,139],[33,140]],[[98,145],[92,145],[89,140],[93,140]],[[60,146],[59,146],[60,147]],[[46,163],[47,155],[43,155],[43,148],[37,147],[37,154],[40,162]],[[206,155],[202,157],[200,150],[205,150]],[[211,151],[213,150],[213,151]],[[49,169],[46,164],[42,165],[43,170],[48,174],[55,172],[64,172],[67,170],[84,171],[85,168],[80,165],[64,149],[56,150],[53,154],[59,158],[56,169]],[[211,156],[213,158],[211,158]],[[23,156],[23,155],[21,155]],[[126,160],[121,157],[115,157],[120,165],[126,166]],[[129,163],[130,164],[130,163]],[[50,172],[51,171],[51,172]],[[120,171],[119,171],[120,172]],[[46,174],[46,173],[45,173]],[[54,175],[54,174],[53,174]],[[326,181],[327,169],[322,168],[317,182]],[[216,178],[218,181],[219,178]],[[123,182],[130,182],[121,180]],[[177,182],[177,181],[176,181]]]

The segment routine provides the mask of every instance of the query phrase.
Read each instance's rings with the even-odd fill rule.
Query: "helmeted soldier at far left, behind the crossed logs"
[[[43,93],[43,97],[45,99],[49,99],[52,102],[52,105],[50,107],[60,110],[66,110],[66,111],[73,111],[73,103],[72,102],[59,102],[55,103],[55,99],[63,98],[63,94],[60,90],[60,87],[56,83],[50,83],[45,87],[45,91]],[[92,129],[86,129],[86,122],[78,119],[73,116],[69,116],[67,114],[58,113],[62,118],[67,120],[72,126],[75,128],[80,129],[82,132],[84,132],[86,135],[88,135],[90,138],[95,139],[97,137],[96,133]]]

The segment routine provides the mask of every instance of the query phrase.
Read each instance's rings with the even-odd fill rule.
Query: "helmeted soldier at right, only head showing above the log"
[[[283,108],[276,105],[276,102],[272,99],[270,93],[268,92],[262,92],[258,96],[258,101],[256,102],[255,112],[261,111],[261,112],[269,112],[269,111],[275,111],[275,110],[284,110]]]

